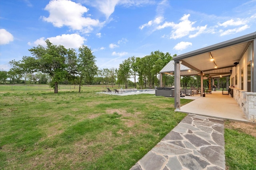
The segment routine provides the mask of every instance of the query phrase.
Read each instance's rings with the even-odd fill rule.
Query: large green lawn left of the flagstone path
[[[173,98],[100,90],[0,93],[0,169],[128,170],[186,116]]]

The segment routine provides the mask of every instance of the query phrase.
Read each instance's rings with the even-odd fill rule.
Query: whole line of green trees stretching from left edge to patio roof
[[[7,78],[10,83],[30,83],[49,85],[58,93],[58,84],[79,85],[79,92],[83,84],[100,84],[104,86],[118,85],[128,88],[133,84],[134,88],[154,88],[160,85],[159,72],[172,60],[168,52],[151,52],[150,55],[140,57],[129,57],[124,60],[119,68],[103,68],[96,66],[96,57],[90,48],[82,45],[75,49],[66,49],[63,45],[53,45],[46,40],[46,47],[38,45],[29,49],[31,56],[22,57],[21,61],[10,61],[12,68],[6,72],[0,70],[0,80],[6,84]],[[174,55],[176,56],[176,55]],[[132,79],[133,82],[130,80]],[[171,75],[163,75],[163,83],[173,84]]]

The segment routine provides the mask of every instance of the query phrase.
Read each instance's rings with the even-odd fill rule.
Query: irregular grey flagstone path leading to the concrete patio
[[[224,122],[187,115],[130,170],[225,170]]]

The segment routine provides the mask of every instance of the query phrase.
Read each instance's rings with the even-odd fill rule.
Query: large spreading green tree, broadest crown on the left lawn
[[[28,57],[24,63],[31,72],[48,74],[52,80],[50,86],[54,87],[54,93],[58,93],[58,83],[75,74],[76,54],[74,49],[53,45],[48,39],[45,42],[46,48],[38,45],[29,49],[34,57]]]

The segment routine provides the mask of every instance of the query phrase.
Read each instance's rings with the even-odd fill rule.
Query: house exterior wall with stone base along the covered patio
[[[254,43],[255,42],[252,42],[248,46],[248,49],[245,51],[244,55],[239,61],[239,64],[233,67],[232,75],[231,75],[231,77],[233,78],[233,81],[231,81],[231,78],[230,78],[230,84],[232,85],[231,88],[233,89],[234,99],[236,100],[238,106],[242,109],[246,118],[249,121],[256,121],[256,92],[248,92],[250,90],[248,90],[247,88],[247,76],[248,76],[247,64],[248,62],[253,61],[252,59],[254,57],[253,56]],[[241,76],[242,68],[243,68],[243,77]],[[254,70],[254,72],[256,71]],[[237,84],[236,84],[236,75],[237,75]],[[243,90],[242,90],[242,84],[241,84],[242,80],[244,82]],[[252,78],[252,76],[251,76],[251,81],[255,81]]]

